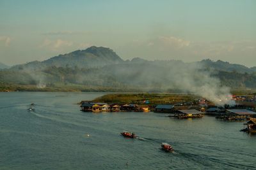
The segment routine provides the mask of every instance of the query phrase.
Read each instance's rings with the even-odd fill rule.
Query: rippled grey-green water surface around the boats
[[[0,93],[0,169],[256,169],[256,136],[239,132],[243,122],[79,111],[103,94]]]

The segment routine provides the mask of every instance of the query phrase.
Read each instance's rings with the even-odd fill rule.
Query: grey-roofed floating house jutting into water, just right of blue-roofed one
[[[202,118],[203,117],[202,111],[198,110],[178,110],[174,117],[176,118]]]

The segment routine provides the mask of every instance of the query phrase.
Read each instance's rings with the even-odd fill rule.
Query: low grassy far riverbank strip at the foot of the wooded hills
[[[48,83],[46,85],[22,85],[15,83],[1,83],[0,92],[137,92],[137,93],[166,93],[181,94],[182,91],[177,89],[145,89],[143,87],[106,87],[79,85],[72,83]],[[234,95],[256,95],[256,89],[232,89],[231,94]]]

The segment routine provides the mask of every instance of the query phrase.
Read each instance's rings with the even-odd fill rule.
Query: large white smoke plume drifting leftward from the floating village
[[[217,105],[234,104],[230,88],[221,85],[220,80],[213,76],[214,71],[206,69],[200,62],[143,61],[138,66],[128,64],[109,69],[116,78],[130,85],[162,91],[176,89],[204,97]]]

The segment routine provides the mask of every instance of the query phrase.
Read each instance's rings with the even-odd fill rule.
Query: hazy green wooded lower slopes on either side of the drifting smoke
[[[132,67],[134,70],[134,67]],[[140,80],[136,74],[111,73],[111,68],[79,68],[51,66],[42,71],[0,71],[0,91],[109,91],[109,92],[182,92],[168,87],[168,82]],[[220,71],[215,74],[221,84],[231,87],[232,94],[256,92],[255,73]],[[42,83],[45,88],[40,87]],[[165,89],[163,88],[165,87]]]

